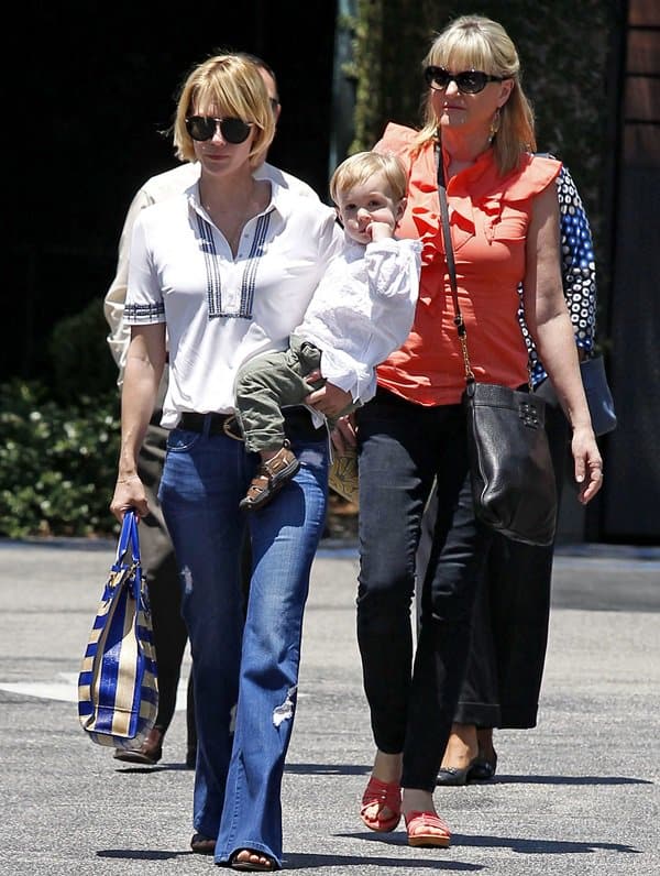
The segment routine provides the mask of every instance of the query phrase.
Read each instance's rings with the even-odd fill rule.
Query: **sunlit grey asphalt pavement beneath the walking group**
[[[188,846],[184,712],[153,768],[113,760],[78,723],[77,674],[113,554],[108,541],[0,540],[0,874],[221,872]],[[324,543],[315,561],[284,780],[286,869],[657,876],[660,549],[558,550],[538,726],[496,732],[493,781],[436,791],[448,850],[410,848],[403,826],[374,834],[359,819],[373,743],[356,569],[345,544]]]

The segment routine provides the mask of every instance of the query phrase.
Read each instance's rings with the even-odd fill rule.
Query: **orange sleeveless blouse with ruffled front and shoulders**
[[[414,152],[416,131],[388,124],[376,152],[394,152],[408,168],[408,202],[397,234],[422,241],[415,321],[404,346],[378,365],[378,385],[421,405],[458,404],[465,388],[463,355],[444,259],[433,144]],[[447,156],[444,156],[447,161]],[[477,381],[527,383],[527,348],[517,319],[531,204],[561,163],[526,155],[501,177],[487,150],[447,186],[459,303]],[[558,253],[559,258],[559,253]]]

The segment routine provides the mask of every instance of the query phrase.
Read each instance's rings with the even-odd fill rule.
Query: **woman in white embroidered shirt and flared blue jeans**
[[[122,442],[111,510],[147,511],[136,461],[161,374],[170,429],[161,500],[190,637],[198,759],[193,851],[237,869],[282,866],[280,785],[296,709],[302,612],[326,516],[328,440],[292,408],[300,460],[277,503],[250,516],[239,502],[258,456],[228,435],[237,370],[284,349],[341,248],[334,211],[256,179],[275,131],[258,68],[219,55],[184,84],[174,123],[179,157],[200,177],[141,211],[124,319],[132,326]],[[166,344],[167,340],[167,344]],[[320,399],[319,399],[320,401]],[[243,623],[240,558],[250,525],[253,573]]]

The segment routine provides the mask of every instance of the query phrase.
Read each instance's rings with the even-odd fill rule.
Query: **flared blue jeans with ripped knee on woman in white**
[[[328,438],[292,435],[300,469],[260,511],[239,511],[258,456],[224,435],[174,429],[160,499],[175,547],[198,736],[194,826],[216,862],[241,848],[282,865],[280,786],[298,685],[302,612],[321,538]],[[245,617],[244,527],[252,540]]]

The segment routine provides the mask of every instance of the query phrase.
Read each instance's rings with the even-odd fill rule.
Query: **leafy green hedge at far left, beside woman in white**
[[[43,385],[0,384],[0,536],[117,532],[117,390],[63,406]]]

